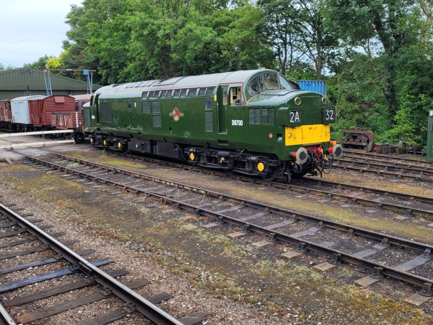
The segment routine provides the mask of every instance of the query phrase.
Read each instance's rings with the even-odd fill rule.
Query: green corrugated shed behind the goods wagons
[[[45,73],[47,74],[47,73]],[[53,95],[78,95],[87,92],[87,82],[50,74]],[[93,91],[101,85],[93,84]],[[21,68],[0,72],[0,100],[20,96],[47,95],[44,72]]]

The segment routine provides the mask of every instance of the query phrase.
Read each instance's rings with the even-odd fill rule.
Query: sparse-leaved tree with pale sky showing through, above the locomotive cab
[[[259,0],[264,11],[264,37],[275,51],[283,74],[313,64],[315,78],[322,79],[325,64],[338,50],[336,33],[328,28],[324,0]]]

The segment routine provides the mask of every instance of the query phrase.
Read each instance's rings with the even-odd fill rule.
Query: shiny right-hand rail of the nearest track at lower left
[[[49,245],[51,249],[75,265],[81,271],[88,275],[92,275],[95,281],[104,287],[113,290],[113,294],[127,303],[133,303],[136,310],[143,314],[146,318],[158,325],[183,325],[180,321],[167,314],[162,309],[156,307],[148,300],[131,290],[109,274],[105,273],[98,267],[92,265],[89,261],[82,258],[80,255],[71,250],[68,246],[57,241],[55,238],[48,235],[43,230],[39,229],[31,222],[16,214],[14,211],[8,209],[3,204],[0,204],[0,212],[12,219],[20,227],[24,228],[30,234],[36,236],[41,242]]]

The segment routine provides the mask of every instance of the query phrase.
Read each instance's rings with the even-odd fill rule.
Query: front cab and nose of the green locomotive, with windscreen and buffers
[[[278,135],[283,143],[279,158],[287,162],[291,176],[327,172],[333,156],[342,155],[340,146],[330,145],[329,124],[335,122],[335,107],[322,94],[300,90],[297,83],[279,73],[265,71],[247,82],[245,96],[250,123],[269,122],[267,107],[275,107],[275,127],[281,130]]]

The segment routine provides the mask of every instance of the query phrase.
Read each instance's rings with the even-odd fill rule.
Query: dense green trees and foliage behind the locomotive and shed
[[[426,144],[433,0],[83,0],[59,58],[29,66],[96,69],[96,82],[266,67],[326,80],[334,138]],[[0,65],[0,70],[6,69]],[[76,78],[82,78],[77,75]]]

